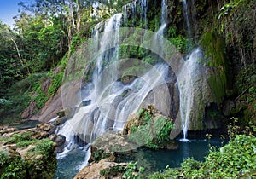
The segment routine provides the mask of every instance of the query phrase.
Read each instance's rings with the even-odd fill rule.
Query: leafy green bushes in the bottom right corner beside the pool
[[[256,170],[256,137],[238,135],[218,151],[211,150],[205,162],[186,159],[181,170],[167,169],[148,178],[252,178]]]

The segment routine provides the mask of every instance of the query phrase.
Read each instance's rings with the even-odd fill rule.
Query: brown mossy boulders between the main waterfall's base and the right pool
[[[75,178],[122,178],[128,164],[116,163],[119,155],[139,147],[177,149],[177,143],[169,138],[172,128],[172,118],[162,115],[154,106],[142,108],[128,118],[121,133],[109,130],[96,138],[90,147],[90,165]]]

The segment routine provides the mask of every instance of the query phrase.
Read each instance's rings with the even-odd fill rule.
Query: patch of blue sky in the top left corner
[[[18,14],[18,3],[21,0],[0,0],[0,20],[3,24],[13,26],[13,17]]]

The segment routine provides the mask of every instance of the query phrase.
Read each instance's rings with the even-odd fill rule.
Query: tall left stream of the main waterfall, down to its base
[[[93,73],[93,79],[87,95],[83,101],[90,101],[90,104],[79,108],[79,111],[74,114],[73,118],[69,119],[61,129],[58,131],[59,134],[66,136],[69,146],[67,150],[71,150],[76,146],[76,138],[79,136],[86,143],[90,143],[95,139],[96,136],[101,135],[102,132],[108,127],[108,117],[109,113],[101,113],[101,111],[108,111],[106,107],[99,106],[99,103],[104,103],[107,101],[103,95],[108,91],[108,85],[111,84],[111,80],[116,78],[116,66],[110,66],[108,69],[108,75],[106,72],[102,75],[104,68],[104,62],[116,61],[118,59],[118,42],[119,42],[119,26],[122,18],[122,14],[115,14],[109,20],[105,22],[104,32],[102,33],[101,40],[97,39],[99,37],[99,26],[98,24],[94,30],[93,34],[96,42],[100,44],[95,44],[95,49],[103,50],[109,49],[111,45],[114,48],[107,50],[96,58],[96,67]],[[115,34],[108,33],[109,31],[115,29]],[[109,43],[110,42],[110,43]],[[111,44],[114,43],[114,44]],[[81,103],[83,102],[81,101]]]

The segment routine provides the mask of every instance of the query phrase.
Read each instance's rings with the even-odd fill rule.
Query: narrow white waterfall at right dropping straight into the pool
[[[183,141],[187,141],[187,133],[189,129],[190,114],[194,101],[194,85],[197,70],[199,69],[198,62],[202,58],[201,49],[194,49],[181,70],[179,81],[179,112],[182,119]]]

